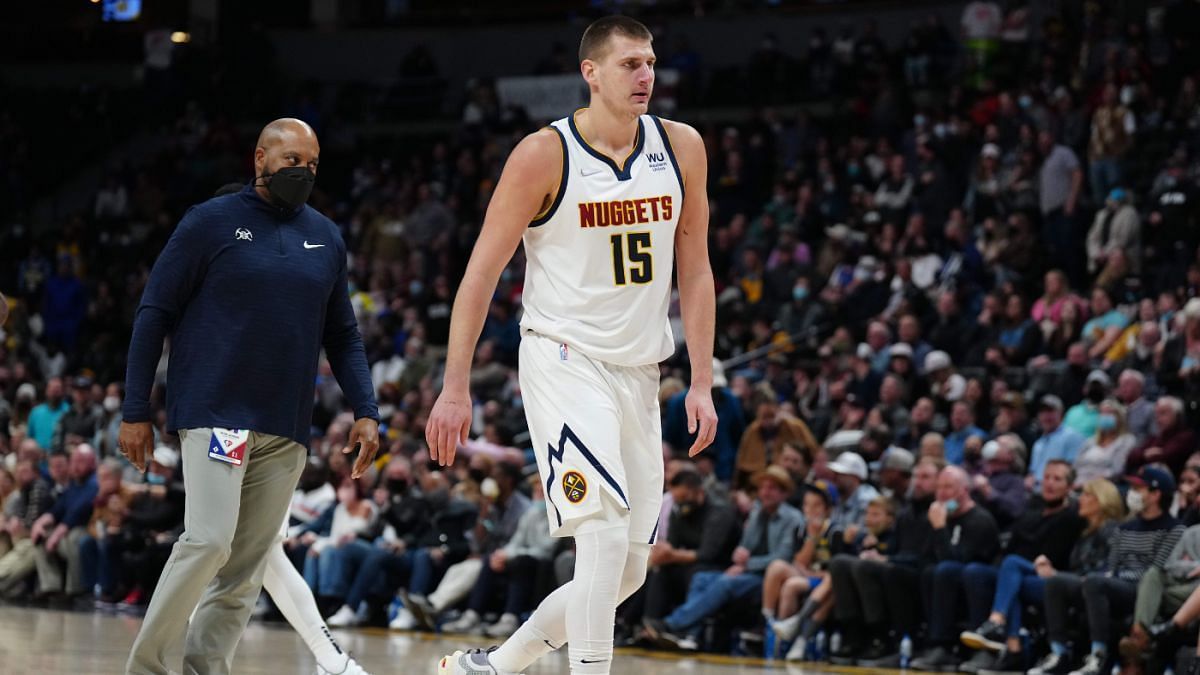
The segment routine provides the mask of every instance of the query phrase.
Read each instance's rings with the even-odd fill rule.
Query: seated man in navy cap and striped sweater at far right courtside
[[[1175,478],[1170,472],[1145,466],[1126,480],[1132,485],[1126,504],[1135,518],[1117,527],[1109,542],[1109,569],[1084,579],[1091,651],[1075,670],[1079,675],[1109,671],[1109,643],[1120,629],[1120,621],[1114,620],[1133,613],[1138,583],[1151,567],[1166,565],[1183,534],[1183,525],[1168,512],[1175,498]]]

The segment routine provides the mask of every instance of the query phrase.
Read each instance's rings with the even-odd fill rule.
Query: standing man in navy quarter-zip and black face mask
[[[190,209],[150,273],[130,344],[119,444],[145,467],[155,365],[170,335],[167,426],[182,443],[187,496],[185,531],[133,644],[130,674],[174,670],[166,653],[181,646],[185,674],[230,671],[307,456],[322,348],[354,410],[342,452],[360,447],[355,478],[378,450],[346,244],[305,204],[319,151],[307,124],[266,125],[254,181]]]

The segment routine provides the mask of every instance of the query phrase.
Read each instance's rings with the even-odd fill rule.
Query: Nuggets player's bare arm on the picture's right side
[[[671,147],[683,174],[685,196],[676,227],[676,268],[684,338],[691,360],[691,389],[684,401],[688,431],[696,442],[688,456],[696,456],[716,437],[716,410],[713,407],[713,341],[716,323],[716,292],[708,262],[708,156],[704,141],[695,129],[664,120]]]

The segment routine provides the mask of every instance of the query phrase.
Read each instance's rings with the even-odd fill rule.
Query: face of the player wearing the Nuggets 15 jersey
[[[607,107],[640,115],[654,91],[654,62],[650,41],[613,35],[599,60],[583,62],[583,77]]]

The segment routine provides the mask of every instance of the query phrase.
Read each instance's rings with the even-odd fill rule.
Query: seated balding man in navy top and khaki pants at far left
[[[37,549],[37,590],[74,598],[86,592],[79,561],[79,542],[96,501],[96,452],[80,443],[71,452],[71,483],[30,528]],[[65,568],[65,569],[64,569]]]

